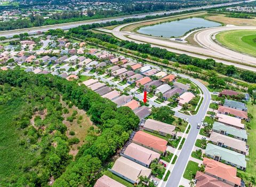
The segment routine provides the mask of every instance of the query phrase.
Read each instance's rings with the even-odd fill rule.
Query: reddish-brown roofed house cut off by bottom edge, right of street
[[[196,172],[196,187],[231,187],[231,185],[218,181],[210,175],[206,175],[202,172]]]

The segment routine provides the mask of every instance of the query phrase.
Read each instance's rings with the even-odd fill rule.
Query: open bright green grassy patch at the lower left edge
[[[36,151],[20,144],[24,132],[13,123],[14,117],[26,107],[27,104],[21,101],[0,105],[0,186],[5,186],[4,181],[9,181],[10,177],[22,177],[23,170],[31,165],[36,155]]]

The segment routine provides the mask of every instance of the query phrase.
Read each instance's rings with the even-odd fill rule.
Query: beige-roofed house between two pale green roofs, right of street
[[[243,155],[247,153],[247,147],[245,141],[234,139],[233,137],[226,136],[223,134],[212,132],[209,141],[214,145],[218,145],[222,148],[236,151]]]

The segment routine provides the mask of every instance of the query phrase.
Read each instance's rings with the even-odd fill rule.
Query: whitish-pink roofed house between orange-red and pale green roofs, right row
[[[239,129],[244,129],[244,124],[242,124],[242,120],[239,118],[223,115],[221,113],[217,113],[216,118],[222,124],[226,124],[228,126],[232,126]]]

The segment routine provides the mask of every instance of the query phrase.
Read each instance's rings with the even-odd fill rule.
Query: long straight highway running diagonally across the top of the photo
[[[247,0],[245,2],[252,2],[252,1],[255,1],[255,0]],[[137,14],[137,15],[126,15],[123,17],[114,17],[114,18],[106,18],[106,19],[98,19],[98,20],[90,20],[90,21],[78,21],[78,22],[73,22],[73,23],[63,23],[63,24],[52,25],[52,26],[42,26],[42,27],[33,27],[33,28],[27,28],[27,29],[1,31],[0,36],[12,37],[13,35],[19,35],[24,32],[28,32],[28,34],[36,34],[38,31],[47,31],[49,29],[57,29],[57,28],[63,29],[63,30],[68,30],[70,28],[74,28],[74,27],[81,26],[81,25],[90,25],[92,23],[103,23],[103,22],[108,22],[108,21],[122,21],[127,18],[144,18],[147,15],[157,15],[157,14],[163,15],[163,14],[171,14],[171,13],[183,12],[183,11],[188,11],[188,10],[202,10],[202,9],[209,9],[209,8],[213,8],[213,7],[234,5],[234,4],[239,4],[242,2],[244,2],[244,1],[207,5],[207,6],[201,6],[201,7],[191,7],[188,9],[180,9],[180,10],[172,10],[172,11],[161,11],[161,12],[143,13],[143,14]]]

